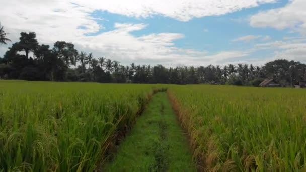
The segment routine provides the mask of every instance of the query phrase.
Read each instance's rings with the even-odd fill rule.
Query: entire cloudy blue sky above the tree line
[[[305,0],[0,0],[12,43],[72,42],[122,65],[306,63]],[[0,57],[12,45],[0,46]]]

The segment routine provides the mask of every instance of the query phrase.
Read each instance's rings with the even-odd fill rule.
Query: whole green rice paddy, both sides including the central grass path
[[[0,81],[0,171],[303,171],[305,101],[289,88]]]

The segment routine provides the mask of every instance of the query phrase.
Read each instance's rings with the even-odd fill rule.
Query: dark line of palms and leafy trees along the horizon
[[[0,27],[0,44],[10,41]],[[21,32],[16,42],[0,58],[1,79],[31,81],[81,81],[100,83],[230,84],[258,86],[273,78],[286,86],[306,80],[306,65],[285,59],[263,66],[248,64],[164,67],[124,66],[119,61],[92,53],[78,52],[70,42],[57,41],[51,49],[40,45],[34,32]]]

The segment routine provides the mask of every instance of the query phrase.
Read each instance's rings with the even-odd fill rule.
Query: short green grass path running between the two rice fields
[[[196,171],[165,92],[155,94],[105,171]]]

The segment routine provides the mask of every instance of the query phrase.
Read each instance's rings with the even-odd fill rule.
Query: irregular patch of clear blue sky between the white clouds
[[[251,15],[259,11],[285,6],[287,1],[279,1],[274,4],[264,4],[259,7],[243,9],[238,12],[229,13],[221,16],[208,16],[194,18],[187,22],[178,21],[173,18],[154,15],[150,18],[127,17],[112,14],[105,11],[94,11],[91,16],[104,18],[97,20],[105,28],[99,32],[88,34],[97,35],[102,32],[114,30],[114,23],[145,23],[148,26],[140,31],[131,32],[134,36],[142,36],[150,33],[182,33],[184,38],[175,41],[175,45],[180,48],[192,48],[196,50],[209,50],[218,52],[229,50],[237,44],[231,44],[231,40],[246,35],[270,35],[274,39],[282,39],[288,35],[288,30],[275,30],[271,28],[254,28],[247,21],[238,22],[237,20],[247,20]],[[235,21],[236,20],[236,21]],[[238,44],[239,45],[239,44]],[[245,44],[239,45],[241,49],[247,48]]]

